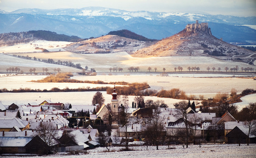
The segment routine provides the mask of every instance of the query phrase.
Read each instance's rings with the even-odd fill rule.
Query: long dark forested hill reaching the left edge
[[[35,40],[79,42],[83,39],[78,36],[68,36],[43,30],[0,34],[0,46],[28,43]]]

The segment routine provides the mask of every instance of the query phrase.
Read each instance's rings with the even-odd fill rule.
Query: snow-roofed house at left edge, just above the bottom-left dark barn
[[[29,122],[21,120],[20,118],[0,118],[0,131],[8,132],[15,126],[17,126],[21,131],[30,129]]]

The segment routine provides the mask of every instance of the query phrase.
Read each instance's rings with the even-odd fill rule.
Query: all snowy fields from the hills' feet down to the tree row
[[[41,53],[41,50],[35,50],[34,44],[40,48],[45,48],[49,50],[48,53]],[[139,72],[148,72],[148,67],[152,68],[151,71],[155,71],[155,67],[157,68],[157,72],[163,72],[163,68],[166,68],[166,72],[174,72],[174,67],[182,66],[183,71],[188,71],[188,66],[196,66],[200,67],[200,71],[207,71],[206,68],[209,66],[210,68],[220,67],[221,71],[224,72],[224,67],[233,68],[236,65],[239,66],[239,70],[241,71],[241,67],[253,67],[256,69],[256,66],[248,65],[246,63],[241,62],[230,62],[224,60],[217,60],[212,57],[207,56],[166,56],[166,57],[132,57],[127,52],[117,52],[110,54],[78,54],[64,51],[62,47],[69,44],[69,42],[52,42],[52,41],[35,41],[27,44],[20,44],[8,47],[0,47],[0,52],[10,53],[11,55],[22,55],[22,56],[30,56],[40,58],[41,60],[48,60],[48,58],[52,58],[54,61],[71,61],[74,64],[80,63],[81,67],[88,66],[89,68],[95,68],[97,72],[109,72],[110,67],[122,67],[124,72],[129,72],[127,70],[128,67],[139,66]],[[61,50],[61,51],[59,51]],[[35,53],[34,53],[35,52]],[[12,62],[14,61],[14,62]],[[5,62],[5,58],[0,58],[0,68],[1,72],[5,71],[5,67],[8,66],[16,66],[16,63],[24,63],[24,67],[27,69],[33,67],[42,67],[41,62],[31,61],[31,60],[22,60],[21,58],[11,58],[7,59],[7,63]],[[27,63],[31,63],[27,65]],[[37,65],[38,63],[38,65]],[[22,66],[22,65],[21,65]],[[43,67],[56,67],[61,65],[45,65]],[[4,69],[2,68],[4,67]],[[32,68],[33,68],[32,67]],[[62,72],[68,72],[69,70],[64,70],[62,68]],[[37,71],[37,72],[41,72]],[[73,70],[75,71],[75,70]],[[72,72],[73,72],[72,71]],[[78,71],[78,70],[77,70]],[[213,71],[212,69],[210,71]]]

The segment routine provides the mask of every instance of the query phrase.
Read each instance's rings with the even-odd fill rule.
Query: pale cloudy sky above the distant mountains
[[[58,9],[100,6],[126,11],[256,16],[256,0],[0,0],[0,9]]]

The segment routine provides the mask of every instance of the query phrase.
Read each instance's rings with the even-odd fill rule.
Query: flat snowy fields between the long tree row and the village
[[[98,86],[113,86],[101,84],[88,84],[88,83],[35,83],[29,82],[31,80],[40,80],[46,76],[43,75],[25,75],[25,76],[10,76],[0,77],[0,89],[7,88],[7,90],[19,88],[31,88],[40,90],[50,90],[53,87],[63,88],[79,88],[79,87],[98,87]],[[203,95],[205,98],[212,98],[216,93],[230,93],[232,88],[242,92],[246,88],[253,88],[256,90],[255,80],[248,78],[235,78],[235,77],[214,77],[214,78],[194,78],[194,77],[163,77],[163,76],[150,76],[150,75],[101,75],[101,76],[74,76],[77,80],[89,81],[104,81],[104,82],[147,82],[150,89],[153,90],[170,90],[171,88],[179,88],[187,93],[187,95]],[[51,93],[0,93],[0,101],[4,105],[27,104],[31,102],[41,103],[44,100],[52,99],[53,102],[70,103],[71,105],[80,105],[77,108],[82,109],[82,105],[91,105],[93,95],[96,92],[51,92]],[[110,103],[111,95],[102,92],[105,96],[106,104]],[[247,98],[247,97],[246,97]],[[169,107],[174,107],[173,104],[181,100],[171,98],[158,98],[155,96],[146,96],[145,100],[164,100]],[[243,98],[242,98],[243,99]],[[134,101],[134,96],[129,96],[129,102]],[[252,95],[250,102],[256,102],[256,97]],[[248,103],[240,103],[248,105]],[[238,103],[239,104],[239,103]],[[243,106],[243,105],[242,105]]]

